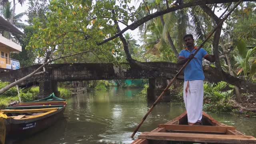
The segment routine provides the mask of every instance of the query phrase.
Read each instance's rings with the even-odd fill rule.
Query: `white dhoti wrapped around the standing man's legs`
[[[188,124],[193,125],[196,122],[201,122],[204,98],[203,80],[185,81],[183,98],[188,114]]]

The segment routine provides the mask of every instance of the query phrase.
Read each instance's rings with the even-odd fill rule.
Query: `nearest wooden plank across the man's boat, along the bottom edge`
[[[223,144],[253,144],[256,138],[253,136],[234,136],[219,134],[187,134],[187,133],[169,133],[169,132],[143,132],[138,138],[148,140],[174,140],[188,142],[211,142]]]

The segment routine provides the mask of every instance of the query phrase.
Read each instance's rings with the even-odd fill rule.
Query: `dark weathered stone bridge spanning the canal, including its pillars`
[[[39,97],[48,96],[54,92],[58,95],[58,82],[80,81],[80,80],[116,80],[116,79],[149,79],[148,101],[154,101],[167,86],[167,79],[171,79],[180,69],[171,62],[144,62],[150,66],[166,68],[170,71],[148,71],[138,66],[122,63],[115,66],[112,63],[74,63],[74,64],[50,64],[46,68],[46,73],[34,76],[25,80],[20,87],[29,87],[34,83],[39,83]],[[10,72],[0,74],[0,80],[14,82],[39,68],[41,65],[33,65]],[[209,77],[209,76],[208,76]],[[183,80],[180,74],[178,80]],[[207,80],[207,76],[206,76]],[[166,92],[162,102],[170,102],[170,93]]]

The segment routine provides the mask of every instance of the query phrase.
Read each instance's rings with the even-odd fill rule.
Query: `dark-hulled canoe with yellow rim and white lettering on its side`
[[[4,142],[4,139],[23,138],[48,128],[62,116],[65,106],[0,110],[0,124],[2,124],[2,128],[0,128],[0,141]]]

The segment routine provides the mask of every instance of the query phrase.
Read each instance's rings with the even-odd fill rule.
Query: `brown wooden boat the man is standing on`
[[[151,132],[143,132],[132,144],[256,144],[256,138],[246,136],[233,126],[227,126],[203,112],[204,126],[189,126],[184,112]]]

